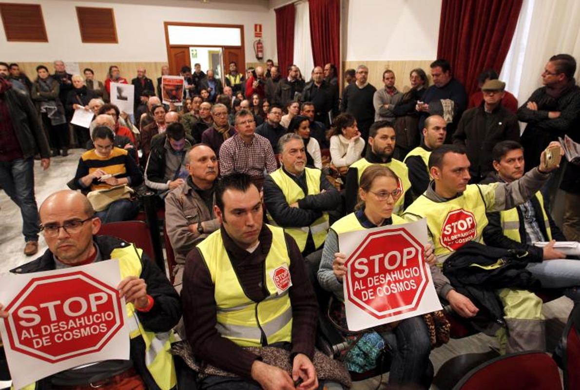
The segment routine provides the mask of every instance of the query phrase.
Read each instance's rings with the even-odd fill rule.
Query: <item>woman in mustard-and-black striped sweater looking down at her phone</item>
[[[72,189],[85,192],[111,189],[126,185],[137,187],[143,183],[143,176],[135,160],[126,149],[115,147],[115,133],[106,126],[97,126],[93,131],[93,145],[82,154],[78,162]],[[105,210],[96,212],[103,223],[130,221],[139,212],[139,203],[128,198],[119,198],[108,204]]]

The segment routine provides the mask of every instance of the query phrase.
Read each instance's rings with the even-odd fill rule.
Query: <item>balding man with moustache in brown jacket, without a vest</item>
[[[165,197],[165,226],[177,267],[174,286],[181,291],[185,258],[209,233],[219,228],[213,214],[215,180],[218,177],[218,158],[211,147],[194,145],[186,154],[189,176],[184,183]],[[191,211],[194,212],[191,212]]]

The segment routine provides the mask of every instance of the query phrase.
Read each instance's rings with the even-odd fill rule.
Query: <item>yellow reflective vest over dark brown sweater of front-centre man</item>
[[[245,295],[231,266],[220,230],[209,234],[197,245],[215,286],[216,328],[223,337],[240,346],[265,346],[292,340],[292,305],[288,290],[278,294],[270,276],[280,266],[289,269],[284,230],[264,226],[272,232],[272,245],[264,266],[264,280],[270,295],[261,302],[252,301]]]

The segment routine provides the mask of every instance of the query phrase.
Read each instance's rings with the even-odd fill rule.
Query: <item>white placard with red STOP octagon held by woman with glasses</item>
[[[343,281],[349,330],[441,310],[423,254],[425,219],[339,235],[347,255]]]

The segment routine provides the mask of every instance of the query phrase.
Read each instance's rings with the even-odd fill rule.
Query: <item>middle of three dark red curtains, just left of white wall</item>
[[[314,66],[336,65],[340,75],[340,0],[309,0]]]

